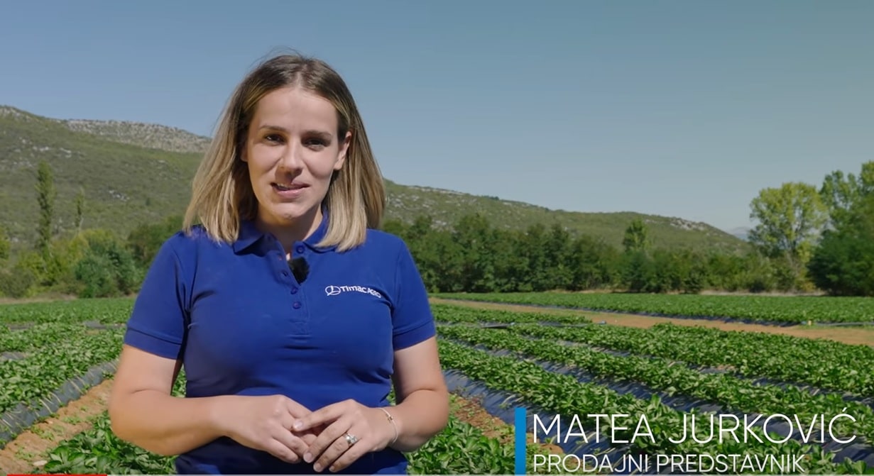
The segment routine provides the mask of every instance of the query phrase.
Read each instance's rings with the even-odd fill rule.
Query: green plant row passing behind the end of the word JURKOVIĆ
[[[836,394],[811,395],[796,387],[757,385],[728,374],[702,374],[665,359],[610,355],[593,348],[570,347],[559,343],[558,337],[550,332],[543,333],[540,339],[527,337],[536,330],[531,325],[512,330],[444,326],[440,327],[440,336],[570,365],[601,378],[643,383],[668,395],[681,394],[720,404],[726,410],[798,415],[802,422],[813,421],[822,415],[830,417],[847,413],[856,421],[836,420],[832,433],[842,437],[864,436],[868,441],[874,441],[874,410],[865,404],[845,402]]]

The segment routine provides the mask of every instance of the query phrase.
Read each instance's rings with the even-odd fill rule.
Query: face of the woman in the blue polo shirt
[[[337,137],[336,110],[300,88],[281,88],[258,103],[243,160],[259,202],[259,220],[290,224],[320,216],[330,178],[345,161],[351,134]]]

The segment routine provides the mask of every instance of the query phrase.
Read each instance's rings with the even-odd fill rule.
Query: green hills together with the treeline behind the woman
[[[0,294],[136,292],[181,222],[204,137],[0,107]],[[383,228],[431,292],[874,295],[874,162],[750,204],[749,242],[679,218],[547,210],[385,181]]]

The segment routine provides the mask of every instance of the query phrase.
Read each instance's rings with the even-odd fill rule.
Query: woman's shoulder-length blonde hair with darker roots
[[[258,101],[288,86],[303,87],[329,100],[336,108],[337,137],[342,141],[347,131],[352,135],[343,168],[331,177],[322,203],[329,224],[317,245],[336,245],[345,251],[364,242],[367,228],[378,228],[385,210],[385,183],[349,88],[322,60],[283,54],[249,72],[228,101],[191,184],[185,231],[191,232],[198,218],[213,239],[232,243],[239,236],[240,219],[256,216],[258,199],[240,152]]]

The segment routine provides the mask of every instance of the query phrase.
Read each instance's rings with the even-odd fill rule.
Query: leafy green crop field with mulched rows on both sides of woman
[[[541,299],[544,305],[568,305],[549,301],[547,294]],[[669,311],[670,297],[658,299],[664,301],[653,312]],[[10,450],[17,437],[111,378],[132,304],[75,300],[0,307],[0,448],[9,445],[0,453],[10,453],[7,459],[0,456],[0,464],[17,461],[11,469],[41,473],[173,471],[172,459],[114,438],[105,409],[89,419],[84,431],[52,440],[39,454]],[[777,308],[761,317],[773,321],[792,315],[779,314]],[[526,440],[528,473],[573,473],[574,461],[589,457],[614,464],[628,456],[652,457],[655,463],[659,455],[732,455],[751,461],[723,473],[799,473],[793,467],[752,463],[768,458],[800,461],[801,473],[874,473],[871,346],[671,324],[627,328],[580,315],[460,304],[434,304],[433,309],[450,389],[476,402],[483,413],[503,419],[505,426],[497,434],[454,406],[447,429],[409,455],[411,473],[514,473],[517,408],[529,417],[528,432],[538,431],[532,416],[544,423],[537,443],[531,435]],[[741,311],[737,307],[734,314]],[[846,312],[844,319],[852,320]],[[690,307],[682,313],[695,314]],[[182,382],[175,388],[179,396]],[[606,417],[596,425],[594,415],[626,416],[624,423],[635,424],[645,417],[650,435],[635,438],[639,425]],[[773,415],[787,419],[764,424]],[[565,434],[549,434],[545,426],[557,416],[566,421],[577,416],[582,424],[572,433],[565,427]],[[705,424],[697,426],[697,439],[676,438],[692,417],[707,422],[711,416],[755,423],[743,431],[746,441],[708,438],[711,428]],[[551,444],[551,456],[546,444]],[[564,466],[543,464],[559,459]],[[665,466],[657,472],[690,473],[686,470]]]

